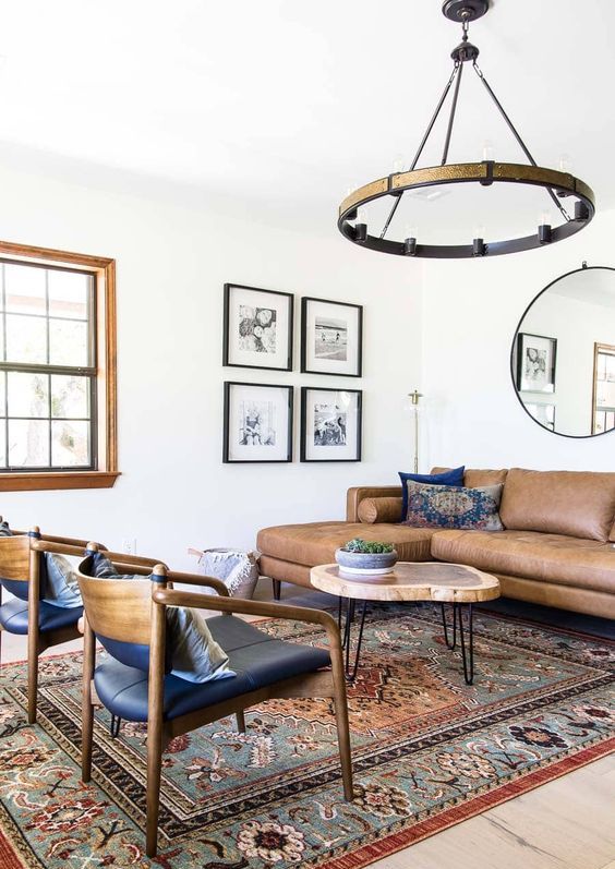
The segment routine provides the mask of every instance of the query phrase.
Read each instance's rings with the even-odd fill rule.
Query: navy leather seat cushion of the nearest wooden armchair
[[[326,649],[276,640],[234,616],[217,616],[207,619],[207,624],[237,676],[204,684],[166,676],[165,719],[185,715],[330,663]],[[101,702],[114,715],[126,721],[147,721],[147,674],[143,671],[109,659],[96,667],[94,684]]]

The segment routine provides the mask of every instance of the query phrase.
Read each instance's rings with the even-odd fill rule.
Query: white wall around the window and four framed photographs
[[[105,192],[0,168],[0,237],[112,256],[118,263],[119,455],[112,490],[3,493],[14,527],[96,538],[190,567],[189,545],[254,544],[273,523],[343,518],[346,488],[394,483],[411,464],[406,395],[420,384],[420,263],[328,237],[262,226],[252,215]],[[236,281],[365,306],[362,381],[222,369],[222,285]],[[364,390],[362,463],[222,464],[222,382]],[[296,457],[299,456],[296,390]]]

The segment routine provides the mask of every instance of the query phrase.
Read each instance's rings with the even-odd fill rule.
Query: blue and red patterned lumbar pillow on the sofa
[[[408,480],[408,510],[401,524],[412,528],[454,528],[503,531],[498,508],[503,484],[466,488]]]

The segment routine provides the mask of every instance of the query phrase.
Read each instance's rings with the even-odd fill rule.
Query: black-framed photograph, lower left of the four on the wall
[[[292,461],[292,386],[225,383],[222,461]]]

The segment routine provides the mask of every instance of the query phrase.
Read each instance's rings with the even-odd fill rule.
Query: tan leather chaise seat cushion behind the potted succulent
[[[429,562],[432,534],[434,529],[388,523],[308,522],[264,528],[258,532],[256,545],[265,555],[314,567],[318,564],[333,564],[335,551],[339,546],[343,546],[352,538],[363,538],[393,543],[401,562]]]

